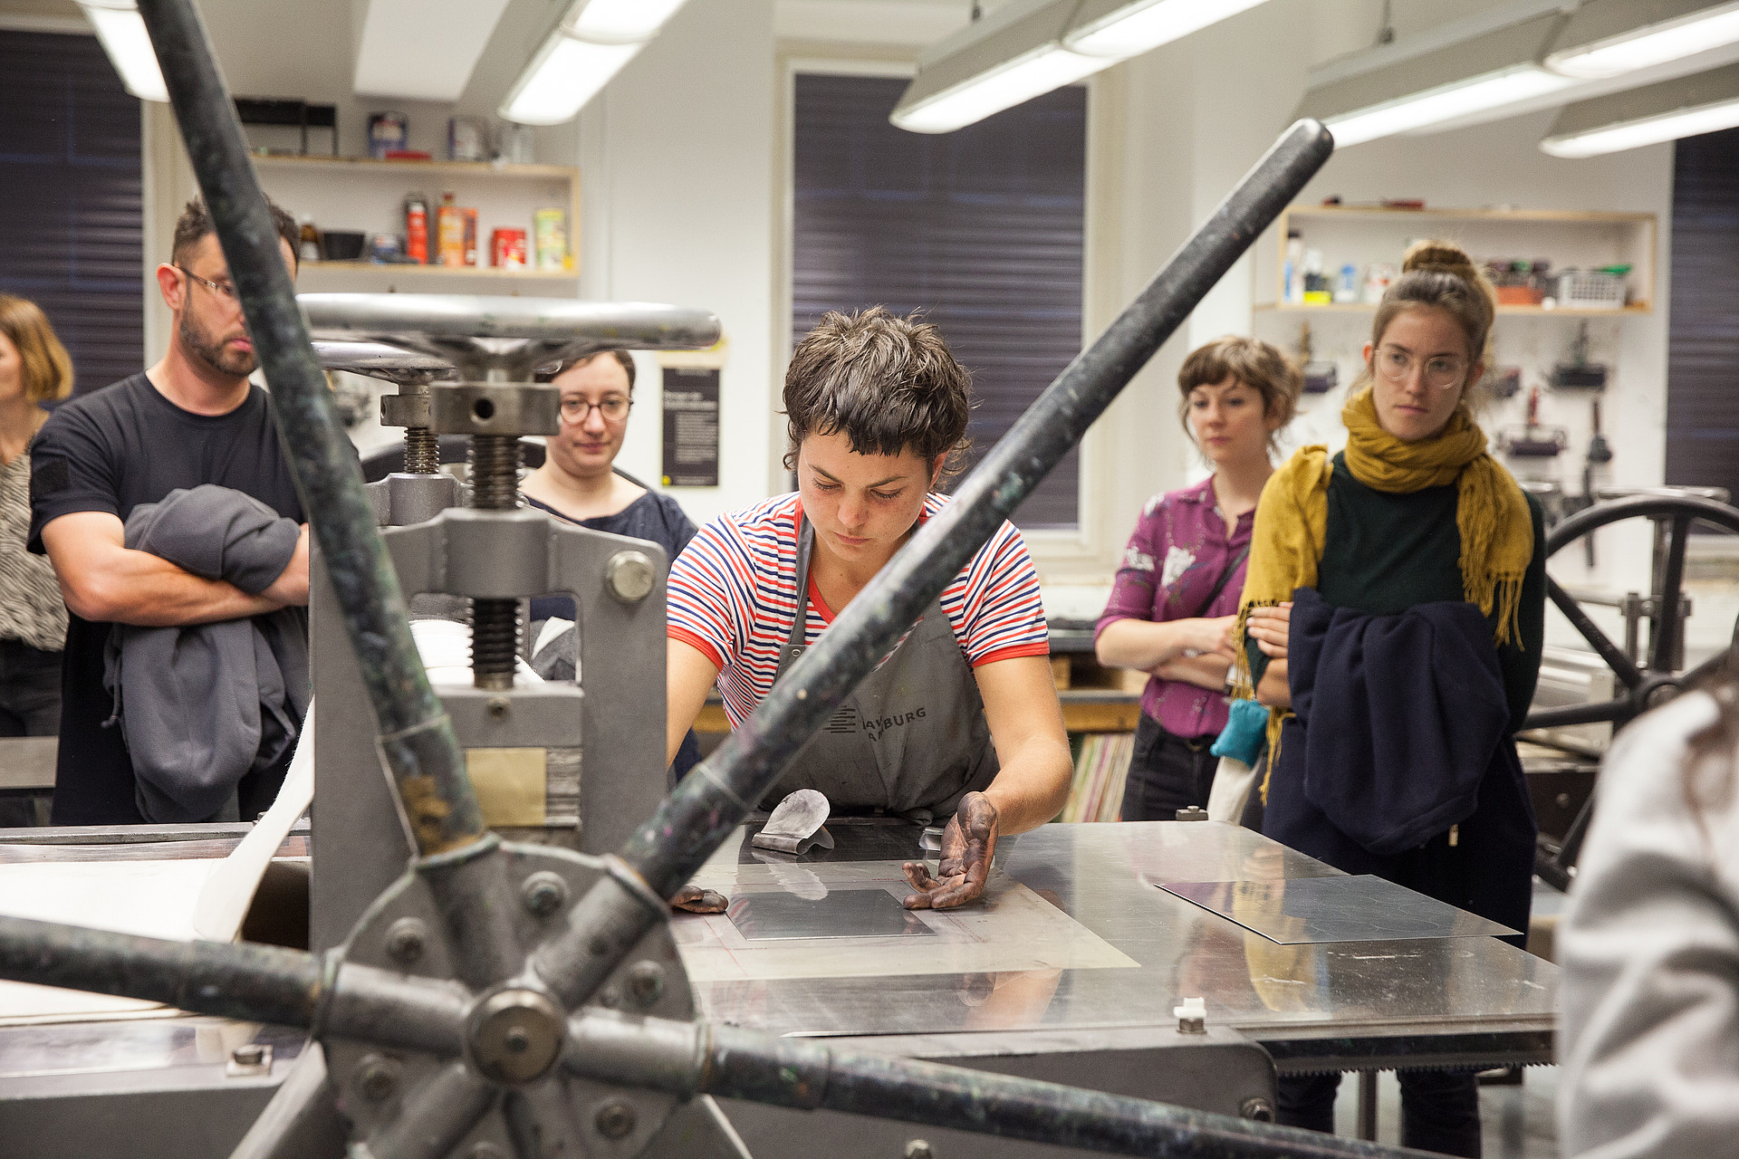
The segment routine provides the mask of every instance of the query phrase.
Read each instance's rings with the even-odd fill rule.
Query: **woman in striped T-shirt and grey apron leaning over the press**
[[[668,749],[718,683],[741,728],[948,499],[970,379],[941,332],[882,308],[830,313],[784,379],[796,492],[713,520],[670,573]],[[937,876],[909,862],[911,909],[984,890],[998,834],[1057,815],[1071,761],[1038,573],[1003,523],[763,798],[819,789],[835,813],[946,824]],[[703,770],[704,772],[704,766]],[[678,900],[678,904],[682,904]]]

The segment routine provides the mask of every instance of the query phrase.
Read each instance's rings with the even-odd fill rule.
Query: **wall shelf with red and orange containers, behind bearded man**
[[[330,156],[256,156],[261,184],[285,210],[327,231],[360,233],[360,259],[306,261],[303,290],[419,290],[497,292],[487,285],[525,285],[525,292],[572,297],[579,294],[576,252],[579,224],[579,170],[569,165],[515,165],[490,162],[423,162]],[[405,238],[405,198],[423,195],[426,207],[428,264],[369,261],[374,238]],[[452,205],[476,210],[475,266],[445,266],[438,255],[438,210],[445,193]],[[562,255],[558,268],[539,268],[536,215],[560,210]],[[525,266],[492,261],[492,233],[525,233]],[[355,250],[351,250],[355,252]],[[487,280],[482,281],[482,280]]]

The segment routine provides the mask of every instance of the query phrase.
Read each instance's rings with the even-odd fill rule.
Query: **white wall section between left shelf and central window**
[[[772,0],[689,0],[579,120],[581,294],[697,306],[729,341],[720,485],[671,488],[697,523],[783,490],[767,422],[774,367]],[[617,460],[659,476],[657,365],[638,356]]]

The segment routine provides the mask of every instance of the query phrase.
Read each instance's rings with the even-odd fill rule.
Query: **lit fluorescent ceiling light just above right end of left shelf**
[[[657,35],[683,0],[576,0],[501,103],[520,125],[560,125]]]

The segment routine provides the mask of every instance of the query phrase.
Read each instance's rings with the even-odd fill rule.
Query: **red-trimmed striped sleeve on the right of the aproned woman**
[[[948,586],[943,610],[972,667],[1050,655],[1038,570],[1012,523],[1003,523]]]

